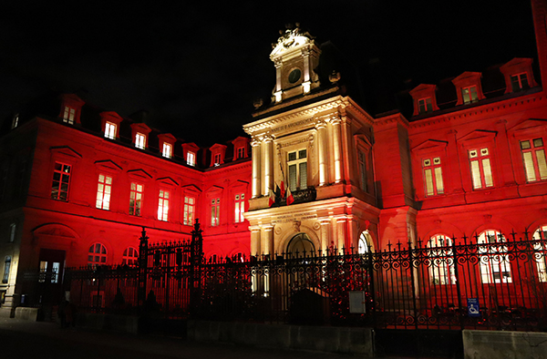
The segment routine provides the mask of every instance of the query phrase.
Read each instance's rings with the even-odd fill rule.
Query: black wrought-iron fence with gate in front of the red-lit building
[[[547,241],[436,237],[367,253],[205,260],[191,241],[149,245],[139,265],[67,271],[82,310],[170,318],[406,329],[547,328]]]

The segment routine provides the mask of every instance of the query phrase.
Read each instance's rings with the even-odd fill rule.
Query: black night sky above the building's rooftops
[[[253,99],[269,101],[271,44],[294,22],[361,72],[377,59],[401,86],[536,57],[528,0],[52,3],[0,5],[0,118],[83,87],[88,102],[122,117],[146,109],[179,138],[235,138]]]

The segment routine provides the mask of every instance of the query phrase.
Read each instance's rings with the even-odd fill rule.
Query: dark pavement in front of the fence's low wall
[[[397,345],[397,344],[394,344]],[[196,343],[176,337],[60,329],[56,323],[0,319],[0,358],[40,359],[348,359],[325,354],[233,344]],[[395,359],[395,357],[390,357]]]

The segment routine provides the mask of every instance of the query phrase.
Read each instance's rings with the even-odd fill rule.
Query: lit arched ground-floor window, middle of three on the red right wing
[[[499,231],[487,230],[479,235],[480,279],[483,283],[511,283],[511,263],[505,237]],[[482,245],[481,245],[482,244]]]

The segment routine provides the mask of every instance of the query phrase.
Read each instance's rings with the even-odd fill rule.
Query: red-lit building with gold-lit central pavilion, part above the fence
[[[53,118],[12,123],[0,158],[5,305],[18,305],[27,269],[134,261],[140,227],[150,241],[178,241],[196,218],[212,261],[540,235],[547,34],[542,2],[532,8],[539,73],[531,58],[513,58],[488,73],[421,84],[408,92],[407,117],[366,113],[338,86],[339,74],[321,83],[313,71],[321,49],[287,30],[271,54],[273,103],[244,126],[250,138],[200,149],[115,112],[88,119],[75,95],[58,100]],[[299,197],[271,206],[282,182]]]

